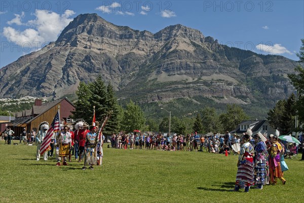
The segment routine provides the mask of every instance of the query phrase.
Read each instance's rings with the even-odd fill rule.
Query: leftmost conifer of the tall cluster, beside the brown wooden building
[[[80,82],[76,95],[78,96],[78,100],[74,103],[75,110],[72,112],[72,118],[82,118],[90,125],[92,114],[90,114],[88,109],[90,108],[89,98],[91,98],[92,94],[89,89],[89,85],[86,85],[84,82]]]

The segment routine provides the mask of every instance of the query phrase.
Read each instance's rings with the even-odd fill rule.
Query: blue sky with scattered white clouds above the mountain
[[[220,44],[298,60],[304,1],[1,1],[0,67],[57,39],[77,15],[133,29],[182,24]]]

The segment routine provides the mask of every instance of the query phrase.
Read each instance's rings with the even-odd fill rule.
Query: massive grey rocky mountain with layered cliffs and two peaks
[[[223,30],[224,31],[224,30]],[[81,14],[52,42],[0,69],[0,98],[73,97],[101,74],[121,102],[201,105],[236,103],[263,112],[293,92],[296,61],[218,43],[180,24],[157,33]],[[183,100],[183,102],[180,102]]]

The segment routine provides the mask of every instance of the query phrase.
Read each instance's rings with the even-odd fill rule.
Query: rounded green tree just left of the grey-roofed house
[[[226,111],[219,116],[223,129],[226,131],[234,130],[242,120],[249,119],[242,107],[236,104],[227,104]]]

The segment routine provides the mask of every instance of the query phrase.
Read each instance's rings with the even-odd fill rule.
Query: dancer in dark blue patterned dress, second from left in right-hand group
[[[255,184],[256,189],[262,189],[265,185],[266,173],[266,161],[267,161],[267,147],[258,134],[253,136],[255,141],[254,146],[254,170],[255,170]]]

